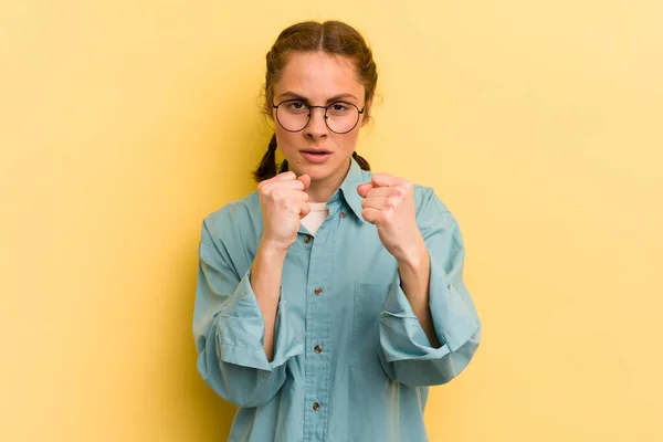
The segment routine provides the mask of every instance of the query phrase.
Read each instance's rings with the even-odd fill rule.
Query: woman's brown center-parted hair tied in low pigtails
[[[318,23],[305,21],[293,24],[281,32],[276,42],[267,52],[267,72],[265,74],[265,108],[264,112],[272,114],[272,101],[274,98],[274,84],[278,82],[281,73],[287,63],[287,56],[292,52],[324,52],[330,55],[340,55],[350,59],[355,65],[357,77],[364,85],[365,103],[370,103],[376,93],[378,83],[378,71],[372,60],[372,52],[357,30],[340,21],[326,21]],[[368,110],[364,118],[368,118]],[[357,152],[352,158],[364,170],[370,170],[368,161]],[[284,160],[278,168],[278,173],[287,170],[287,161]],[[253,177],[257,182],[276,176],[276,134],[267,146]]]

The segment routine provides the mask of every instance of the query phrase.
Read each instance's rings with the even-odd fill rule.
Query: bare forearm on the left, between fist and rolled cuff
[[[286,251],[261,243],[251,266],[251,287],[265,323],[263,348],[269,361],[274,357],[274,323],[281,295]]]

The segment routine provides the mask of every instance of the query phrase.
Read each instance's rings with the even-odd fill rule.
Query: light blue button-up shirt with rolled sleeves
[[[415,186],[442,344],[433,348],[396,259],[361,218],[357,186],[370,177],[351,159],[315,238],[299,229],[283,269],[271,362],[250,283],[262,234],[257,192],[206,218],[193,335],[202,378],[240,407],[230,441],[427,441],[428,387],[453,379],[476,351],[481,323],[462,278],[455,219],[432,189]]]

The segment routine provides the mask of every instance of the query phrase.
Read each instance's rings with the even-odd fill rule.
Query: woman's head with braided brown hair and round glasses
[[[275,135],[260,167],[261,181],[276,175],[275,147],[297,175],[339,181],[360,127],[368,122],[378,73],[364,38],[338,21],[303,22],[285,29],[266,56],[265,114]],[[318,107],[319,106],[319,107]]]

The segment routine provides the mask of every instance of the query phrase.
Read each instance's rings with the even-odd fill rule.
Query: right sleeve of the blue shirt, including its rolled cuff
[[[444,383],[470,362],[481,322],[463,280],[464,248],[457,223],[434,194],[419,217],[431,264],[429,307],[440,348],[431,346],[394,277],[380,314],[380,359],[387,373],[408,385]]]

